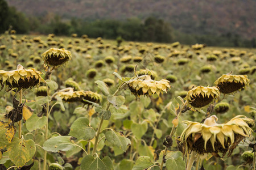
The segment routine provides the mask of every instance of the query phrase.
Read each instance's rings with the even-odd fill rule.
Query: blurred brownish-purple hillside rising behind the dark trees
[[[7,0],[28,16],[55,13],[63,18],[126,19],[147,16],[163,18],[185,33],[240,35],[256,38],[254,0]]]

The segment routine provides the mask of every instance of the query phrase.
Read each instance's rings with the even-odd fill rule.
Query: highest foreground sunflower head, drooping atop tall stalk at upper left
[[[72,58],[71,52],[64,48],[50,48],[42,54],[44,63],[49,66],[60,66]]]

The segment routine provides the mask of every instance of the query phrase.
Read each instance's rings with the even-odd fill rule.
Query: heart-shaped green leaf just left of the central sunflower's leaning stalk
[[[80,117],[73,122],[68,135],[76,137],[77,139],[83,139],[89,141],[95,137],[96,131],[88,126],[89,120],[85,117]]]

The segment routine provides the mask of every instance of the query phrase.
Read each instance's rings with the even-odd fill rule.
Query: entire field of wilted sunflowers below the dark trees
[[[11,30],[0,56],[0,169],[255,169],[255,49]]]

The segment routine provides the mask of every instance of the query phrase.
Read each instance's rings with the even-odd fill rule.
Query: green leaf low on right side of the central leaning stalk
[[[106,141],[112,143],[113,146],[116,146],[123,151],[126,151],[127,145],[131,144],[130,139],[126,138],[124,135],[117,133],[114,130],[109,130],[106,132]]]

